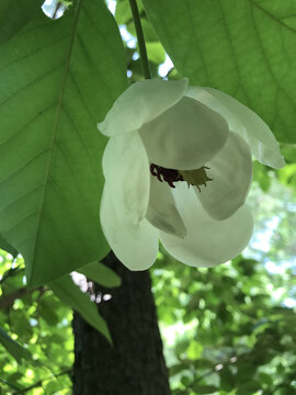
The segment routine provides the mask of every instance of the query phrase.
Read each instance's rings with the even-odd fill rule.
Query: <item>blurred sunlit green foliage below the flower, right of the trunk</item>
[[[164,253],[153,280],[173,395],[281,395],[280,386],[294,393],[296,316],[281,305],[296,285],[293,276],[239,257],[187,268]]]

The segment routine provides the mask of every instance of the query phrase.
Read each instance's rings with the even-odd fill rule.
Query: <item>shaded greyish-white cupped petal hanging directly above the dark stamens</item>
[[[221,149],[228,132],[221,115],[191,98],[139,131],[150,162],[178,170],[202,167]]]

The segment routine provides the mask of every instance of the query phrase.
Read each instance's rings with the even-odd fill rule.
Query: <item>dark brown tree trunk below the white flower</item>
[[[104,263],[122,278],[121,287],[98,286],[112,295],[99,309],[114,347],[75,314],[73,395],[169,395],[149,272],[130,272],[114,255]]]

